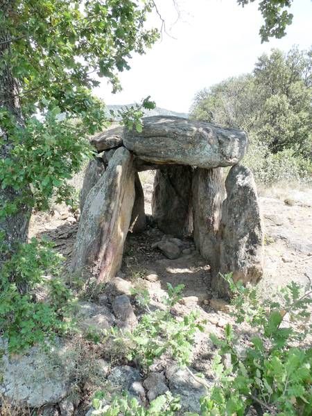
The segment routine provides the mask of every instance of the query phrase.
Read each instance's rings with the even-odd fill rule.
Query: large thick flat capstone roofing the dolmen
[[[125,129],[123,137],[123,145],[147,162],[200,168],[237,164],[247,143],[241,130],[175,116],[145,117],[141,132]]]

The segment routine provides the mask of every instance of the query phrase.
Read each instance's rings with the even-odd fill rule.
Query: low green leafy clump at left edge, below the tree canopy
[[[32,239],[3,264],[0,327],[10,352],[21,352],[71,329],[72,297],[60,279],[61,261],[51,243]],[[44,302],[35,300],[39,289],[46,293]]]

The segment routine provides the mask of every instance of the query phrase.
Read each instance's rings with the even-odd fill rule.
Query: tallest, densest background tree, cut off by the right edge
[[[254,80],[261,87],[261,112],[257,134],[277,153],[294,148],[311,152],[311,51],[275,49],[262,55],[254,68]]]

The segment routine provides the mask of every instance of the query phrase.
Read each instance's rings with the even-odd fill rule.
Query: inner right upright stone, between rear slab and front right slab
[[[196,168],[193,174],[193,239],[202,257],[209,261],[211,275],[218,274],[220,266],[218,231],[224,199],[222,168]]]

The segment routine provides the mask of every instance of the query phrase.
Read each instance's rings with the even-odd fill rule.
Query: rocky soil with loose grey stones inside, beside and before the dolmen
[[[153,173],[144,172],[140,175],[146,198],[146,213],[150,214]],[[260,201],[266,231],[266,268],[265,276],[261,281],[263,291],[269,294],[272,288],[285,285],[291,280],[306,284],[312,279],[312,190],[291,191],[282,198],[267,195],[261,197]],[[69,264],[78,227],[77,221],[78,213],[71,213],[64,206],[55,206],[49,215],[33,216],[31,236],[46,236],[53,240],[57,250],[64,255]],[[185,286],[184,297],[174,310],[177,319],[196,309],[200,313],[200,318],[207,322],[207,331],[196,336],[191,369],[193,372],[202,372],[207,382],[212,383],[211,357],[214,354],[214,347],[209,340],[209,333],[214,332],[222,336],[225,324],[232,320],[228,315],[228,306],[222,300],[216,299],[211,292],[209,264],[196,252],[193,241],[173,239],[172,236],[155,228],[152,220],[149,221],[146,232],[128,235],[119,277],[112,281],[104,293],[97,294],[93,299],[81,300],[81,325],[85,328],[106,329],[116,324],[125,329],[132,329],[137,324],[140,311],[133,302],[130,289],[146,288],[152,300],[151,307],[153,305],[159,307],[166,293],[167,282],[173,286],[177,284]],[[248,343],[248,333],[242,328],[235,326],[234,328],[241,337],[242,345]],[[62,349],[58,349],[58,354]],[[37,354],[37,350],[34,354]],[[168,357],[156,361],[146,378],[135,367],[119,362],[118,358],[112,359],[110,354],[96,354],[94,351],[89,351],[87,354],[89,360],[93,355],[96,357],[100,379],[104,379],[105,383],[108,383],[105,385],[110,385],[114,391],[128,390],[142,403],[146,403],[169,389],[174,395],[180,395],[184,411],[199,410],[199,398],[205,393],[205,388],[192,379],[186,370],[175,367]],[[28,366],[31,362],[42,363],[42,357],[37,355],[31,358],[28,355],[25,359]],[[12,374],[9,374],[9,370],[6,373],[10,382],[12,377],[16,378],[21,362],[17,361],[13,364],[10,367]],[[55,370],[58,368],[61,368],[60,365],[53,366],[53,371],[57,373],[56,379],[60,378],[61,370]],[[71,371],[72,368],[67,371],[67,376]],[[29,378],[29,374],[25,377]],[[53,372],[49,375],[53,376]],[[68,399],[64,399],[70,390],[69,381],[65,381],[66,385],[56,383],[53,392],[51,388],[49,389],[49,385],[46,387],[43,384],[48,399],[41,414],[46,416],[86,415],[88,412],[90,414],[89,395],[92,392],[92,380],[83,382],[83,397],[80,393],[79,399],[75,398],[73,393]],[[19,383],[23,384],[24,381]],[[9,382],[6,387],[12,390]],[[72,385],[71,391],[75,390],[73,387]],[[28,392],[23,385],[21,393],[29,406],[36,405],[37,392]],[[43,404],[44,392],[39,396],[37,406]]]

